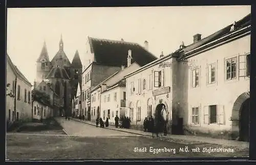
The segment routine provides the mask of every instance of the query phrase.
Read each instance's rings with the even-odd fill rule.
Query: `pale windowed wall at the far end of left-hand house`
[[[20,96],[18,99],[18,86],[20,86]],[[27,98],[25,99],[25,89],[27,90]],[[30,96],[28,95],[30,92]],[[31,100],[31,85],[28,85],[25,81],[17,78],[16,86],[16,113],[20,121],[30,121],[32,119],[32,100]],[[30,101],[29,101],[30,99]]]

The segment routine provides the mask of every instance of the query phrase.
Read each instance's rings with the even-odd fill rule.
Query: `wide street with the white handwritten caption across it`
[[[108,159],[248,156],[248,149],[166,140],[56,119],[69,135],[8,133],[7,159]],[[186,147],[188,152],[186,152]],[[217,150],[210,150],[218,148]],[[18,148],[18,150],[17,150]],[[160,149],[160,150],[159,150]],[[183,151],[182,151],[183,149]]]

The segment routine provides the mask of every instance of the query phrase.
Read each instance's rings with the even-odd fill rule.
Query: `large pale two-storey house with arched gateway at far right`
[[[180,123],[186,133],[249,141],[250,33],[248,14],[203,39],[195,35],[176,51],[174,127]]]

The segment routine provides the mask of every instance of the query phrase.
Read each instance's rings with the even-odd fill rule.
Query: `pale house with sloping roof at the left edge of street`
[[[31,83],[15,66],[9,55],[6,58],[6,121],[7,128],[16,121],[25,122],[31,117]]]

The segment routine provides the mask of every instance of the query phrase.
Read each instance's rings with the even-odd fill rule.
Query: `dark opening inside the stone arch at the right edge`
[[[239,134],[240,141],[250,140],[250,99],[246,99],[240,109]]]

